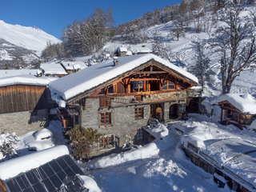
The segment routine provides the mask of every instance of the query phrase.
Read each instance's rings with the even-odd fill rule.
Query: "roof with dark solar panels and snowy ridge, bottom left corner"
[[[55,146],[1,162],[0,192],[89,191],[85,177],[67,147]]]

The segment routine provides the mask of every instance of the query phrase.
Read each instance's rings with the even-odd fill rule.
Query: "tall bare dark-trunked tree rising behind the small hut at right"
[[[231,1],[219,10],[216,26],[211,42],[221,58],[222,94],[226,94],[243,70],[255,69],[255,32],[252,19],[242,14],[242,6]]]

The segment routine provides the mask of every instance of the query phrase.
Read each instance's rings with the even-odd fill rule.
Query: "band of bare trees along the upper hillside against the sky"
[[[238,0],[234,0],[238,1]],[[244,0],[241,3],[253,3],[254,0]],[[210,33],[214,25],[214,14],[222,9],[225,0],[183,0],[180,4],[165,6],[162,10],[154,10],[143,14],[134,21],[114,26],[113,9],[106,11],[98,7],[88,18],[74,21],[62,30],[62,43],[48,42],[42,51],[42,62],[53,58],[75,55],[102,54],[102,47],[109,41],[119,41],[135,45],[148,41],[146,28],[172,21],[170,36],[179,39],[193,26],[197,33]],[[208,13],[208,14],[205,14]],[[158,31],[154,32],[156,38]],[[156,40],[156,39],[153,39]],[[154,45],[157,46],[157,45]]]

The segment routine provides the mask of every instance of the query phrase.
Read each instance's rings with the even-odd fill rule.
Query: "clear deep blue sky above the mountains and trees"
[[[0,20],[21,26],[37,26],[60,38],[64,27],[82,21],[98,6],[113,8],[116,26],[155,9],[176,5],[182,0],[0,0]]]

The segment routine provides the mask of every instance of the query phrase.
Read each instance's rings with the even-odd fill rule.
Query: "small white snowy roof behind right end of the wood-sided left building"
[[[61,66],[60,63],[55,63],[55,62],[47,62],[47,63],[42,63],[40,67],[45,71],[46,74],[68,74],[66,70]]]

